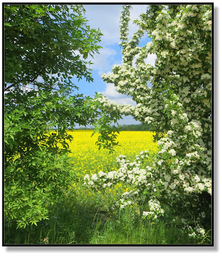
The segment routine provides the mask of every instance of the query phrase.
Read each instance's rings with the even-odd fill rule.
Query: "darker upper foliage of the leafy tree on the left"
[[[85,59],[99,51],[102,33],[84,13],[80,4],[4,5],[4,89],[71,88],[72,76],[92,81]]]

